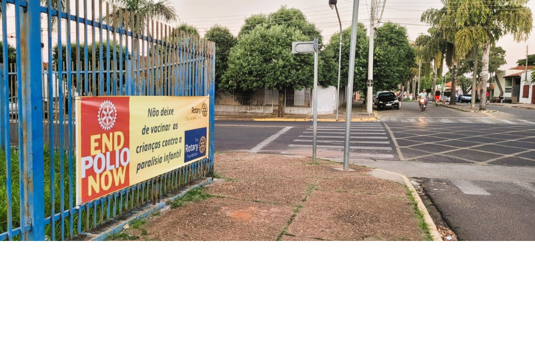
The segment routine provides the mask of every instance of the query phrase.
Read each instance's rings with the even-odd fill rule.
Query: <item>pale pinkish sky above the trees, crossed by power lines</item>
[[[212,25],[228,26],[232,33],[238,34],[243,19],[256,13],[270,13],[277,11],[281,5],[288,5],[300,9],[307,18],[322,29],[328,38],[340,31],[336,12],[328,7],[328,0],[171,0],[175,4],[180,19],[196,26],[201,35]],[[380,1],[383,3],[383,0]],[[417,4],[417,6],[415,5]],[[358,20],[366,26],[370,24],[371,0],[360,0]],[[439,0],[415,2],[414,0],[386,0],[383,22],[392,21],[407,27],[410,40],[415,40],[419,34],[427,32],[427,26],[420,21],[423,11],[429,8],[440,8]],[[528,6],[535,13],[535,0],[530,0]],[[338,9],[343,28],[351,25],[353,0],[339,0]],[[506,36],[498,42],[498,46],[507,51],[508,66],[515,66],[519,58],[525,57],[526,45],[530,46],[530,54],[535,54],[535,33],[525,43],[515,43],[512,36]]]

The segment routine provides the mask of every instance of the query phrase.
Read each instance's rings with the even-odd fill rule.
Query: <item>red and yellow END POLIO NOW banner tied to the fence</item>
[[[77,99],[77,204],[208,157],[208,96]]]

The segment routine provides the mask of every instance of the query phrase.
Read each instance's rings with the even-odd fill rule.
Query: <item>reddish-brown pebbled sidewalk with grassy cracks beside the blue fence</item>
[[[301,156],[218,154],[220,178],[213,184],[111,240],[432,240],[402,177],[310,162]]]

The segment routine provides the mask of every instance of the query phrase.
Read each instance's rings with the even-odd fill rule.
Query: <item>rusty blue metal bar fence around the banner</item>
[[[102,0],[0,1],[0,241],[83,239],[213,174],[215,44]],[[210,157],[75,206],[77,95],[209,95]]]

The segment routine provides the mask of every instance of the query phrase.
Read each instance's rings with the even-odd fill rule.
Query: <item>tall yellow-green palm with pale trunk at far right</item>
[[[481,89],[487,92],[490,53],[503,35],[511,34],[515,41],[525,41],[531,33],[533,16],[526,6],[529,0],[442,0],[448,18],[454,21],[453,42],[460,54],[468,54],[475,44],[482,44],[483,59]],[[482,96],[480,110],[486,109]]]

